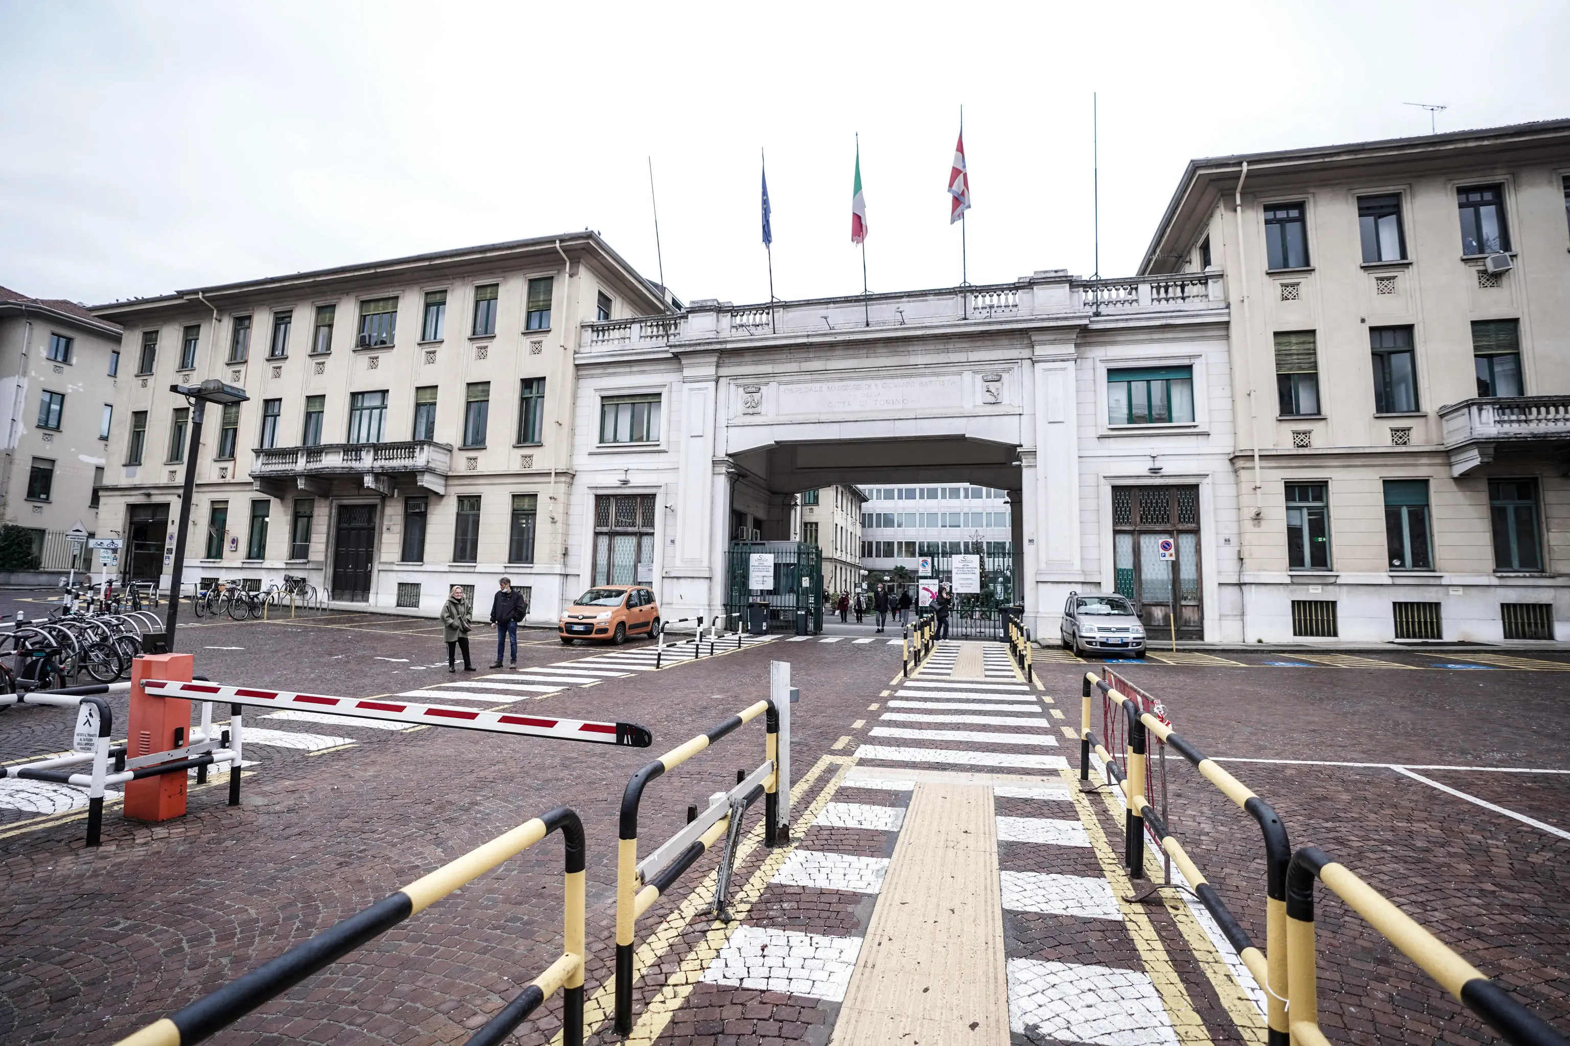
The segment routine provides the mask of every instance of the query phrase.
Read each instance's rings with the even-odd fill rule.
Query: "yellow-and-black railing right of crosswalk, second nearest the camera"
[[[1118,772],[1116,761],[1105,750],[1105,746],[1101,745],[1093,732],[1091,696],[1097,690],[1105,695],[1105,699],[1110,699],[1118,706],[1127,723],[1127,775]],[[1198,867],[1195,867],[1193,861],[1167,830],[1165,819],[1159,817],[1146,800],[1145,750],[1148,732],[1156,734],[1156,737],[1159,737],[1165,745],[1170,745],[1173,751],[1192,762],[1199,772],[1199,776],[1220,789],[1226,798],[1240,806],[1243,812],[1253,817],[1259,825],[1259,831],[1264,836],[1265,844],[1264,957],[1259,955],[1259,950],[1248,939],[1248,935],[1243,933],[1237,919],[1234,919],[1231,913],[1226,911],[1226,906],[1221,905],[1215,891],[1204,883],[1204,877],[1199,877]],[[1167,723],[1162,723],[1149,712],[1140,710],[1135,703],[1127,698],[1127,695],[1118,693],[1094,673],[1085,673],[1085,682],[1080,692],[1080,787],[1086,787],[1090,784],[1090,756],[1093,750],[1102,757],[1108,778],[1123,784],[1124,798],[1127,800],[1124,847],[1127,853],[1129,878],[1145,877],[1145,828],[1146,823],[1149,823],[1156,831],[1156,837],[1162,842],[1162,850],[1171,856],[1179,869],[1182,869],[1190,883],[1195,883],[1195,895],[1199,897],[1199,902],[1215,917],[1228,941],[1234,949],[1237,949],[1243,964],[1248,966],[1248,972],[1253,974],[1254,980],[1265,988],[1265,1024],[1269,1027],[1267,1041],[1270,1046],[1284,1046],[1289,1040],[1286,1013],[1286,870],[1292,859],[1292,845],[1287,841],[1286,825],[1281,823],[1281,817],[1242,781],[1223,770],[1215,761],[1206,757],[1204,753],[1195,748],[1190,742],[1184,740]],[[1203,892],[1198,883],[1206,884]],[[1215,906],[1212,908],[1212,905]],[[1225,916],[1218,913],[1225,913]]]

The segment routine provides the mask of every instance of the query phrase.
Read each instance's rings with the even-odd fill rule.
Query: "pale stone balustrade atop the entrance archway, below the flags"
[[[1116,321],[1182,312],[1226,311],[1220,270],[1075,279],[1063,270],[1035,273],[1013,284],[945,287],[890,295],[851,295],[733,306],[694,301],[686,312],[584,323],[579,351],[664,348],[713,340],[799,339],[870,328],[1019,325],[1031,320]]]

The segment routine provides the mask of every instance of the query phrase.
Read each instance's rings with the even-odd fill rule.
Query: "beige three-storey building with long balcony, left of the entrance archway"
[[[188,453],[170,386],[218,378],[250,400],[207,408],[187,582],[292,574],[430,615],[455,583],[484,613],[506,574],[554,621],[576,594],[578,328],[664,307],[592,232],[99,306],[126,358],[102,528],[133,541],[129,577],[166,582]]]

